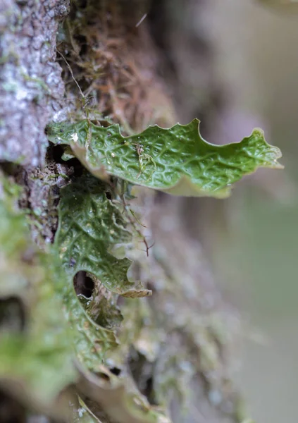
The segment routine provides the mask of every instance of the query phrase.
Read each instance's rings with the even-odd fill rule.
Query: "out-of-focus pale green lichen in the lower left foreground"
[[[0,380],[38,406],[52,406],[73,383],[70,333],[63,314],[61,280],[54,254],[30,241],[27,219],[17,207],[16,185],[0,181]],[[15,307],[9,309],[11,299]],[[6,316],[19,321],[11,329]],[[59,369],[59,372],[57,372]]]

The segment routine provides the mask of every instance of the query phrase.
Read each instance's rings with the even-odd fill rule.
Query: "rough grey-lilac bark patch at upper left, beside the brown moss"
[[[61,108],[58,21],[69,0],[4,0],[0,5],[0,160],[44,164],[44,128]]]

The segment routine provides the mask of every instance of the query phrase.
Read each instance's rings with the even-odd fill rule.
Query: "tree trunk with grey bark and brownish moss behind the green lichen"
[[[203,0],[1,4],[0,160],[23,185],[20,206],[40,218],[31,226],[39,247],[54,240],[59,176],[74,172],[57,147],[48,147],[44,130],[52,120],[88,114],[130,134],[198,114],[204,133],[212,133],[226,102],[213,76],[204,25],[210,12]],[[46,183],[49,176],[55,184]],[[127,345],[126,372],[149,402],[166,403],[173,422],[240,422],[242,401],[232,383],[240,319],[191,235],[201,204],[139,190],[137,208],[154,247],[149,257],[135,253],[135,274],[153,295],[133,301],[149,307],[151,334],[142,341],[150,343],[160,328],[166,337],[150,360],[148,351]],[[4,421],[17,421],[9,412]]]

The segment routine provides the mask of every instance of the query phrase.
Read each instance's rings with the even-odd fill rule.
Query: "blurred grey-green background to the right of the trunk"
[[[255,185],[242,184],[226,200],[229,231],[213,243],[213,261],[226,295],[247,312],[239,384],[249,411],[259,423],[295,423],[298,13],[252,0],[210,2],[219,78],[234,87],[235,109],[282,149],[285,165],[278,176],[261,173]]]

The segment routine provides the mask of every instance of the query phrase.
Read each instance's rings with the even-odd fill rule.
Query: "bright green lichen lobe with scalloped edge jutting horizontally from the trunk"
[[[197,119],[168,129],[149,126],[129,137],[117,124],[104,128],[87,119],[53,123],[47,133],[51,142],[70,145],[97,178],[113,175],[172,195],[223,198],[257,168],[283,168],[280,149],[266,142],[261,129],[241,142],[213,145],[201,137]]]

